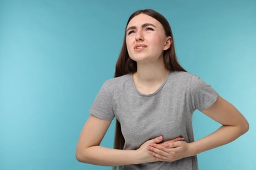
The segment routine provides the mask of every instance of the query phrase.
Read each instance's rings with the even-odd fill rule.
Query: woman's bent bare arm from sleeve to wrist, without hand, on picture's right
[[[203,110],[203,113],[223,126],[211,135],[192,143],[194,154],[230,143],[249,129],[244,116],[222,97],[219,97],[211,107]]]

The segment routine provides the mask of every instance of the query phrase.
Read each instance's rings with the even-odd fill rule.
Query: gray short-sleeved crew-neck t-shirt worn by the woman
[[[149,95],[141,94],[128,74],[106,80],[96,96],[90,113],[103,120],[116,116],[125,138],[125,150],[136,150],[149,139],[160,135],[163,141],[184,137],[194,141],[192,113],[207,109],[218,93],[198,76],[170,72],[160,88]],[[123,169],[198,169],[196,156],[174,162],[157,161],[125,165]]]

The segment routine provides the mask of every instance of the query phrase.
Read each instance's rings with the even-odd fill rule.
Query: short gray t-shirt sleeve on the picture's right
[[[200,111],[207,109],[219,97],[219,94],[209,85],[203,82],[203,80],[196,76],[192,76],[191,84],[191,102],[194,110]]]

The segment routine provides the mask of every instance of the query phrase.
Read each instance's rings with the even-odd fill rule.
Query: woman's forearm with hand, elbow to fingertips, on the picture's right
[[[211,135],[192,143],[184,141],[169,143],[167,141],[163,144],[150,144],[148,152],[158,161],[176,161],[230,143],[244,134],[247,129],[247,124],[244,126],[222,126]]]

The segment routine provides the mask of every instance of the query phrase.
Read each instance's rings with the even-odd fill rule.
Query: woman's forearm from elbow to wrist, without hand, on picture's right
[[[247,130],[248,126],[221,126],[217,131],[210,135],[190,143],[192,146],[192,155],[200,154],[206,150],[222,146],[230,143],[243,135]]]

